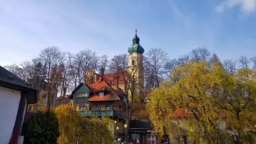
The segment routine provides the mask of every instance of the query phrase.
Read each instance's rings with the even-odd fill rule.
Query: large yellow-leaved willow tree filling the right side
[[[183,129],[197,144],[249,144],[256,131],[255,74],[252,69],[228,74],[220,64],[206,61],[178,65],[171,80],[150,93],[146,108],[153,129],[170,137]]]

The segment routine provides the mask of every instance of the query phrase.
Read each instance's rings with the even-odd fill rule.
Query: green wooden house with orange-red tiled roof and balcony
[[[109,117],[117,123],[115,130],[117,136],[124,136],[124,120],[125,116],[119,111],[118,102],[124,99],[122,92],[114,90],[109,83],[102,77],[92,83],[86,85],[81,83],[78,85],[70,96],[72,99],[72,107],[76,111],[80,111],[83,117]]]

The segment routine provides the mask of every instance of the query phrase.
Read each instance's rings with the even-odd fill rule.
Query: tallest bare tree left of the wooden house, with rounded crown
[[[52,80],[50,80],[50,71],[54,65],[58,64],[64,59],[62,52],[59,50],[59,47],[46,47],[43,49],[40,54],[40,59],[46,64],[47,67],[47,107],[49,107],[49,99],[52,89]]]

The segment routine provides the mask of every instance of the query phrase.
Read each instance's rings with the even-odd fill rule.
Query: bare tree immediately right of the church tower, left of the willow
[[[148,88],[158,87],[164,80],[164,66],[168,60],[167,53],[160,48],[151,48],[144,56],[144,76]]]

